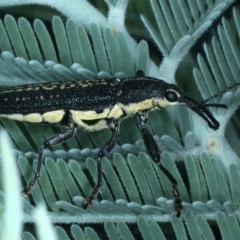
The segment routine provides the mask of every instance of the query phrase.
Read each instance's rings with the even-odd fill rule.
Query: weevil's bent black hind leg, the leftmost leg
[[[66,142],[69,138],[71,138],[72,136],[75,135],[76,131],[77,131],[77,128],[73,127],[64,133],[56,134],[53,137],[44,141],[43,145],[39,148],[37,169],[34,173],[34,177],[29,182],[29,184],[23,189],[23,191],[22,191],[23,195],[26,196],[29,194],[29,192],[31,191],[31,188],[34,186],[34,184],[36,183],[36,181],[38,180],[38,178],[40,176],[41,166],[44,161],[44,155],[43,155],[44,149]]]

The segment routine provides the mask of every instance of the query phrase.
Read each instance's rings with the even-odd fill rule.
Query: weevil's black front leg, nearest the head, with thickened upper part
[[[138,114],[138,122],[141,130],[141,134],[143,137],[144,144],[146,146],[146,149],[151,156],[152,160],[158,164],[160,169],[163,171],[163,173],[168,177],[170,182],[172,183],[172,193],[174,197],[174,204],[175,204],[175,210],[177,212],[177,217],[180,217],[180,210],[183,208],[182,207],[182,202],[180,199],[180,194],[177,189],[177,181],[173,177],[173,175],[161,164],[161,159],[160,159],[160,150],[157,146],[156,141],[154,140],[152,134],[149,132],[149,130],[146,127],[146,115],[145,114]]]

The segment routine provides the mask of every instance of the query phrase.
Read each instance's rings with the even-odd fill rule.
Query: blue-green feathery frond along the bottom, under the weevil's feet
[[[6,165],[10,164],[8,158],[3,160]],[[186,238],[188,234],[192,239],[201,239],[201,237],[215,239],[211,225],[207,220],[216,220],[223,236],[229,239],[238,236],[240,232],[238,223],[240,201],[238,182],[240,175],[236,166],[232,165],[230,168],[231,179],[230,185],[228,185],[228,178],[224,174],[224,168],[220,162],[210,159],[206,154],[202,155],[200,163],[191,156],[187,156],[185,167],[190,183],[190,192],[188,192],[185,189],[185,183],[180,179],[178,170],[171,166],[173,161],[169,155],[164,155],[163,160],[164,165],[176,176],[179,182],[179,190],[184,201],[181,218],[176,218],[173,201],[166,198],[171,198],[170,182],[152,164],[146,154],[140,154],[139,158],[129,155],[127,162],[121,155],[115,154],[114,168],[105,158],[103,169],[106,182],[104,182],[100,193],[104,200],[94,201],[87,210],[82,208],[84,197],[79,196],[79,192],[82,192],[83,195],[89,194],[90,178],[96,176],[93,159],[88,159],[87,163],[91,177],[73,160],[66,163],[59,159],[55,163],[52,159],[47,159],[39,185],[33,189],[30,202],[20,197],[19,186],[11,188],[12,178],[17,178],[15,176],[17,174],[10,175],[11,168],[4,168],[3,174],[9,178],[9,181],[5,182],[5,188],[9,191],[6,191],[6,195],[1,192],[0,201],[1,204],[4,204],[10,196],[9,194],[19,195],[9,202],[9,208],[14,209],[11,217],[14,219],[17,216],[16,211],[22,209],[21,207],[16,209],[16,206],[19,206],[17,203],[23,200],[23,221],[24,223],[32,222],[34,218],[36,218],[35,220],[39,218],[37,221],[43,227],[39,228],[41,230],[39,236],[45,233],[49,234],[49,231],[52,231],[52,227],[48,223],[49,220],[45,219],[46,217],[52,223],[61,224],[70,222],[78,224],[102,223],[108,239],[116,239],[116,237],[134,239],[136,232],[143,239],[149,239],[150,236],[153,239],[157,239],[159,236],[167,239],[167,232],[159,226],[159,222],[170,222],[169,226],[174,231],[173,234],[179,239]],[[19,159],[21,171],[26,165],[25,162],[26,159]],[[140,181],[139,178],[142,180]],[[140,195],[138,196],[138,194]],[[159,194],[164,197],[157,199]],[[46,213],[42,210],[34,210],[34,206],[32,206],[32,204],[40,204],[43,199],[47,200],[46,204],[50,209],[48,216],[45,216]],[[33,211],[36,211],[36,214],[32,217]],[[129,223],[132,223],[131,228]],[[98,230],[92,227],[80,227],[73,224],[69,230],[66,232],[66,229],[61,226],[54,227],[58,238],[79,239],[80,236],[90,239],[100,238]],[[23,238],[35,239],[30,232],[24,232]]]

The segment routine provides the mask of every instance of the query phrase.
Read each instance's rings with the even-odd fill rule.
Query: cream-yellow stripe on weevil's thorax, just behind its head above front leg
[[[153,103],[153,98],[151,98],[138,103],[130,103],[127,105],[119,104],[119,106],[126,112],[127,115],[134,115],[138,111],[153,109],[155,107]]]

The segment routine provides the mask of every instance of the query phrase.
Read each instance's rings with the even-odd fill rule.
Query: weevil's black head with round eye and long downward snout
[[[214,130],[219,128],[219,122],[214,116],[208,111],[204,104],[198,103],[193,99],[189,98],[184,92],[174,84],[163,83],[158,99],[158,107],[163,108],[169,105],[183,104],[196,112],[202,117],[208,124],[208,126]]]

